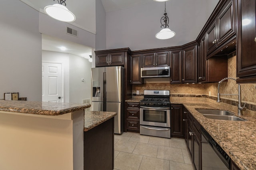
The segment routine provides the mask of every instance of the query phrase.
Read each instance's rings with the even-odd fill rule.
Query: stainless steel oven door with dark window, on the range
[[[171,127],[169,107],[140,107],[140,125]]]

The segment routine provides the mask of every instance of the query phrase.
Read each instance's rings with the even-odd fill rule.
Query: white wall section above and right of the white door
[[[42,50],[42,61],[62,63],[64,82],[64,102],[69,103],[69,54]]]

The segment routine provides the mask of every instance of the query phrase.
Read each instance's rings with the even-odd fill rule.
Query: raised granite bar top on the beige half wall
[[[28,113],[34,115],[63,115],[66,113],[86,109],[90,104],[80,103],[53,103],[36,101],[7,101],[0,100],[0,111]]]

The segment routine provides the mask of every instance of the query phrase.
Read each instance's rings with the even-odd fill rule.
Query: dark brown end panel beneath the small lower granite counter
[[[84,170],[114,169],[114,117],[84,132]]]

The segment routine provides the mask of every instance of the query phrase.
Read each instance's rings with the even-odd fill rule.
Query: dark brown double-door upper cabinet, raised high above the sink
[[[206,31],[207,58],[232,42],[236,36],[235,0],[228,0]]]

